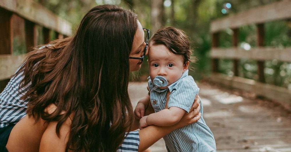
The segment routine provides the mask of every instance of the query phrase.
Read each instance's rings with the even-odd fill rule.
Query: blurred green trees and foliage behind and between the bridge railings
[[[72,25],[74,34],[79,22],[88,10],[96,5],[115,4],[123,8],[134,10],[145,28],[149,28],[151,35],[162,26],[175,26],[184,30],[190,38],[193,54],[198,58],[192,63],[194,71],[190,74],[196,80],[207,78],[211,73],[211,34],[210,22],[235,14],[250,8],[267,5],[277,0],[34,0],[51,10],[59,17],[66,19]],[[19,22],[18,22],[19,23]],[[21,24],[21,23],[19,23]],[[26,52],[24,29],[14,24],[13,49],[15,54]],[[256,45],[255,25],[239,28],[238,46],[250,50]],[[44,44],[42,27],[38,27],[38,44]],[[231,29],[220,33],[219,47],[232,46]],[[51,40],[56,35],[52,33]],[[291,21],[274,21],[265,24],[265,46],[290,47]],[[233,76],[231,60],[219,60],[219,72]],[[265,62],[265,79],[269,84],[291,89],[291,64],[278,60]],[[239,76],[256,80],[257,65],[254,60],[243,59],[239,62]],[[131,74],[131,81],[145,81],[148,77],[148,63],[144,62],[138,72]]]

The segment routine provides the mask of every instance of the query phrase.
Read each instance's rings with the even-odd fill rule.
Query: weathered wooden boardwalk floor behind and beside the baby
[[[147,83],[130,82],[129,94],[135,108],[147,94]],[[290,113],[273,103],[244,98],[207,83],[198,84],[203,117],[212,130],[217,151],[291,151]],[[161,139],[152,151],[166,151]]]

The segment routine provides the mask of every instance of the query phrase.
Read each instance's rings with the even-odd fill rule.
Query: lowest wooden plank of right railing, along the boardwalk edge
[[[291,110],[291,90],[286,88],[260,83],[251,79],[237,76],[229,77],[225,74],[219,73],[212,73],[210,80],[229,87],[246,90],[257,95],[265,96],[269,99],[277,101],[285,108]]]

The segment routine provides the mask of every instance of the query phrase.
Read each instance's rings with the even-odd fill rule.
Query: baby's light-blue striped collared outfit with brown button
[[[148,79],[150,101],[155,112],[165,108],[167,91],[171,92],[168,108],[179,107],[189,112],[199,88],[194,79],[188,76],[188,70],[182,74],[179,80],[164,90],[155,87],[150,77]],[[203,114],[202,102],[200,112]],[[214,136],[206,125],[203,115],[196,123],[172,131],[164,137],[164,140],[168,151],[216,151]]]

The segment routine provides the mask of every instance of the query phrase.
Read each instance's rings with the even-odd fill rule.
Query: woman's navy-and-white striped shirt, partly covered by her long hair
[[[0,128],[16,124],[26,116],[28,99],[20,100],[20,97],[27,92],[30,83],[18,91],[19,84],[24,78],[23,72],[24,70],[13,76],[0,94]],[[139,132],[132,131],[128,133],[117,151],[138,151],[138,149]]]

